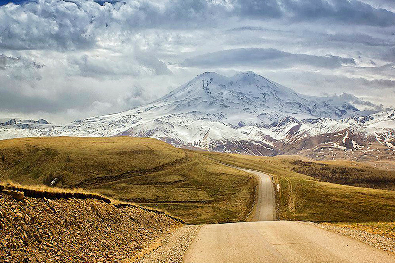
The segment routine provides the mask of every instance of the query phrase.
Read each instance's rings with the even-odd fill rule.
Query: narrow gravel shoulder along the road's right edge
[[[363,243],[369,244],[373,247],[391,251],[395,253],[395,239],[382,236],[379,234],[373,234],[373,233],[368,233],[366,231],[362,230],[356,230],[356,229],[349,229],[349,228],[344,228],[344,227],[339,227],[335,225],[324,225],[324,224],[317,224],[313,222],[302,222],[308,225],[314,225],[316,227],[323,228],[328,231],[332,231],[344,236],[348,236],[351,238],[354,238],[356,240],[359,240]]]

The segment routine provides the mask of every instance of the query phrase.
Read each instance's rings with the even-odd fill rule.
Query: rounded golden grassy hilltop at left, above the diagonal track
[[[0,179],[41,184],[51,175],[67,187],[103,176],[182,161],[185,152],[148,138],[40,137],[0,141]]]

